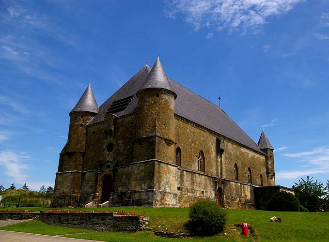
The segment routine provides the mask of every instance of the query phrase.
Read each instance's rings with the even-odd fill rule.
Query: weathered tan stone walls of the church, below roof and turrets
[[[137,113],[87,126],[86,153],[81,171],[58,173],[55,206],[78,206],[101,199],[105,175],[113,178],[111,206],[188,207],[196,199],[217,200],[221,178],[225,207],[253,208],[252,184],[272,185],[266,178],[265,155],[251,151],[225,137],[175,116],[174,143],[160,136],[135,139]],[[225,146],[218,153],[218,139]],[[113,144],[113,150],[107,146]],[[181,149],[181,166],[176,164],[176,148]],[[199,152],[204,153],[204,170],[199,170]],[[76,155],[80,155],[79,153]],[[69,163],[69,157],[62,157]],[[111,168],[105,168],[110,163]],[[238,166],[235,180],[234,164]],[[60,163],[61,164],[61,163]],[[73,182],[73,186],[72,186]],[[217,183],[218,182],[218,183]],[[63,195],[63,196],[62,196]],[[68,196],[65,196],[68,195]],[[80,196],[78,196],[80,195]],[[59,201],[61,199],[62,201]]]

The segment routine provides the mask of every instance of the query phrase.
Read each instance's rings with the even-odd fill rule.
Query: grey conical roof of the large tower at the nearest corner
[[[173,91],[172,86],[169,83],[165,71],[163,70],[159,57],[157,57],[157,61],[154,63],[151,72],[149,73],[145,82],[141,86],[140,91],[148,88],[166,89],[172,91],[175,96],[175,99],[177,97],[176,93]]]

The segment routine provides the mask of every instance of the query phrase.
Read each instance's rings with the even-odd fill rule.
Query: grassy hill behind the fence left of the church
[[[24,189],[6,189],[0,192],[0,195],[1,208],[16,207],[18,200],[19,207],[48,207],[52,198],[52,194]]]

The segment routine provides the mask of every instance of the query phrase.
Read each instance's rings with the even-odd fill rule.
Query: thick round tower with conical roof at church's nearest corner
[[[177,97],[157,58],[145,82],[137,92],[138,120],[135,140],[141,153],[135,160],[174,160],[174,104]]]

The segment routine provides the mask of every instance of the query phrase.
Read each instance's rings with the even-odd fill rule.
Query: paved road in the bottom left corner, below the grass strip
[[[49,235],[29,234],[21,232],[12,232],[0,230],[1,242],[96,242],[90,240],[80,240],[72,238],[64,238]]]

